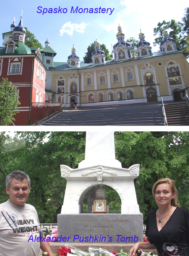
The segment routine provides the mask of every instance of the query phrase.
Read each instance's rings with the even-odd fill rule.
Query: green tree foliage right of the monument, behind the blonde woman
[[[157,208],[152,196],[153,184],[162,177],[175,180],[181,207],[188,208],[189,197],[188,132],[117,132],[116,157],[123,168],[140,164],[135,189],[140,211]],[[142,193],[141,193],[142,191]]]

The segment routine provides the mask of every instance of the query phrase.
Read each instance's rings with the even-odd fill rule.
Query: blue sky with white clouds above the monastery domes
[[[65,8],[66,13],[37,13],[37,8],[60,9]],[[74,10],[82,8],[111,8],[108,13],[71,13]],[[139,0],[0,0],[0,31],[10,31],[10,24],[15,17],[18,25],[23,10],[23,26],[35,35],[37,40],[44,46],[44,42],[49,38],[51,48],[57,52],[54,58],[56,62],[66,62],[71,54],[73,43],[76,48],[76,54],[83,60],[88,45],[96,40],[111,52],[111,45],[117,43],[116,33],[118,24],[122,27],[127,38],[134,37],[138,39],[141,31],[145,34],[146,41],[150,42],[152,51],[157,52],[159,46],[153,47],[153,28],[157,27],[159,22],[181,21],[184,16],[184,9],[187,7],[186,1],[139,1]],[[62,10],[63,10],[62,9]],[[38,11],[39,11],[38,10]],[[62,11],[61,10],[61,11]],[[80,12],[82,10],[80,9]],[[0,45],[3,39],[0,37]]]

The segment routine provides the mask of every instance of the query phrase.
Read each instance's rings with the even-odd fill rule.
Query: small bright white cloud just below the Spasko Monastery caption
[[[89,23],[85,24],[84,22],[82,22],[81,24],[77,24],[77,23],[72,23],[69,21],[67,23],[65,23],[60,30],[60,35],[63,36],[64,33],[67,33],[68,35],[73,35],[73,31],[77,31],[79,33],[84,33],[84,29],[86,28],[86,26],[89,25]]]

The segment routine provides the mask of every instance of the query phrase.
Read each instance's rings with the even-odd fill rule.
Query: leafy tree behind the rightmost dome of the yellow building
[[[183,23],[179,21],[177,22],[174,19],[168,22],[165,20],[163,22],[159,22],[157,28],[153,29],[154,36],[158,35],[158,37],[155,38],[155,43],[153,43],[153,45],[160,45],[160,42],[163,39],[163,31],[166,30],[169,33],[169,36],[175,40],[177,50],[189,52],[187,42],[189,32],[188,14],[189,8],[186,8],[184,17],[182,18]]]

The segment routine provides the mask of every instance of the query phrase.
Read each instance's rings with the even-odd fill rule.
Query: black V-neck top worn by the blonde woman
[[[189,210],[177,207],[167,223],[158,231],[156,211],[148,213],[146,236],[158,255],[189,256]]]

